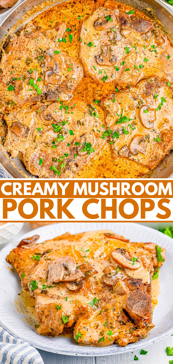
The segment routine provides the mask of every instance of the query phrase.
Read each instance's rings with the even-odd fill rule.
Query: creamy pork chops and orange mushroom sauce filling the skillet
[[[160,26],[124,4],[109,0],[105,7],[100,0],[96,9],[93,2],[79,0],[41,13],[4,41],[1,144],[39,177],[141,177],[172,149],[172,57],[172,44]],[[97,123],[85,128],[89,137],[82,143],[75,139],[84,134],[78,124],[73,149],[72,140],[71,146],[66,141],[68,131],[74,132],[76,101],[89,105]],[[52,116],[59,114],[56,102],[67,122],[59,131],[52,126],[59,125]],[[43,117],[46,109],[50,112]],[[114,119],[111,126],[108,118]],[[40,119],[43,130],[38,130]],[[104,119],[107,130],[102,130]]]

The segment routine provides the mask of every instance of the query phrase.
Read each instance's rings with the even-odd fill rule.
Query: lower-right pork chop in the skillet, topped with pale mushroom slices
[[[151,76],[101,102],[113,158],[126,157],[149,168],[173,147],[173,92]]]

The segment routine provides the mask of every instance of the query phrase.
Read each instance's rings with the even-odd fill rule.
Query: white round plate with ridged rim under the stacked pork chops
[[[14,300],[17,293],[21,291],[19,276],[12,273],[7,267],[5,258],[11,249],[15,248],[18,241],[5,246],[0,252],[0,325],[2,325],[12,335],[19,339],[26,340],[36,348],[53,353],[79,356],[112,355],[128,351],[133,351],[156,341],[164,339],[173,332],[173,240],[168,236],[151,229],[150,227],[138,225],[132,222],[84,222],[84,223],[59,223],[39,227],[21,236],[20,240],[34,234],[39,234],[39,242],[52,239],[65,232],[81,233],[87,230],[111,229],[117,234],[130,238],[130,241],[154,242],[167,249],[166,261],[160,271],[160,289],[158,305],[153,313],[153,323],[155,327],[148,333],[145,339],[139,340],[136,344],[129,344],[125,347],[112,345],[105,348],[95,348],[80,346],[75,340],[68,337],[46,337],[36,333],[36,331],[25,324],[22,315],[15,311]],[[19,240],[19,238],[18,238]]]

